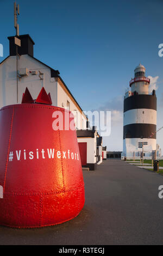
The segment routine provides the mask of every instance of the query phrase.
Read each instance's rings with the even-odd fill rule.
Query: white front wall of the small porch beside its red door
[[[87,163],[96,163],[96,136],[95,138],[78,138],[78,142],[87,143]]]

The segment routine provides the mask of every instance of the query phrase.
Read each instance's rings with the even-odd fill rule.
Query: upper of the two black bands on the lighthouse
[[[124,100],[123,112],[136,108],[148,108],[156,110],[156,96],[148,94],[138,94],[127,97]]]

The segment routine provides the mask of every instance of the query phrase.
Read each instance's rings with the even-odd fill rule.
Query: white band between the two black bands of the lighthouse
[[[147,108],[137,108],[124,112],[123,125],[143,123],[156,125],[156,111]]]

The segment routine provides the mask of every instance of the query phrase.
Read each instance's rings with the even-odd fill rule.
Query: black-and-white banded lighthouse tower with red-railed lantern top
[[[145,66],[134,70],[130,89],[124,95],[123,105],[123,156],[152,157],[156,150],[156,95],[149,89],[150,79]]]

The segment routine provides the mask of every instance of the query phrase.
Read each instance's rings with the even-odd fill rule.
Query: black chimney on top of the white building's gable
[[[10,56],[16,56],[16,45],[15,45],[15,36],[9,36],[10,42]],[[30,35],[20,35],[17,36],[18,39],[21,40],[21,46],[17,46],[17,52],[20,55],[28,54],[33,57],[33,46],[34,41],[30,37]]]

